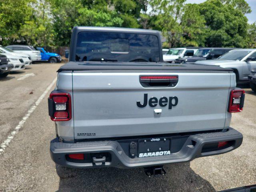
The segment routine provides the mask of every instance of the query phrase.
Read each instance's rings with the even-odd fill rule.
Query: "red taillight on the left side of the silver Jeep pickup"
[[[48,98],[49,115],[53,121],[71,119],[71,97],[68,93],[52,92]]]

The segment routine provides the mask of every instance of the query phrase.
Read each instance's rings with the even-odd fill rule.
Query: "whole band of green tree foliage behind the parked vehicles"
[[[0,44],[69,46],[74,26],[155,29],[164,47],[256,47],[245,0],[1,0]]]

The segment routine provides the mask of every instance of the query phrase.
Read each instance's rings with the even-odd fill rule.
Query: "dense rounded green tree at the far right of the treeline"
[[[220,0],[200,4],[206,21],[206,46],[246,47],[247,18],[240,9]]]

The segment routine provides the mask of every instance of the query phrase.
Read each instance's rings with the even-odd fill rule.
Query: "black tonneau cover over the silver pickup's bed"
[[[170,64],[168,62],[100,62],[100,61],[86,61],[86,62],[68,62],[60,67],[57,72],[62,71],[108,71],[114,72],[116,70],[139,70],[139,71],[158,71],[165,72],[170,70],[179,71],[218,71],[230,72],[232,69],[221,68],[219,66],[198,65],[198,64]]]

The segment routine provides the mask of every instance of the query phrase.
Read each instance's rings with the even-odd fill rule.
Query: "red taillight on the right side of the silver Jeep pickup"
[[[231,91],[228,112],[242,112],[244,107],[244,93],[244,90]]]

